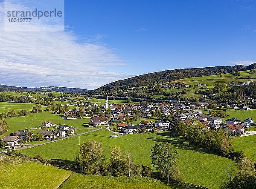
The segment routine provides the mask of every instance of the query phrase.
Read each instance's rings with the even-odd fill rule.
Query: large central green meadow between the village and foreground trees
[[[172,132],[154,134],[131,134],[110,138],[112,133],[106,129],[81,136],[81,141],[99,140],[103,143],[106,160],[109,160],[110,148],[120,145],[122,152],[130,152],[134,162],[151,166],[151,148],[157,142],[168,141],[179,153],[177,162],[185,181],[188,183],[218,188],[223,180],[225,167],[233,161],[194,146]],[[73,161],[79,151],[79,138],[73,137],[31,149],[20,150],[29,156],[41,155],[43,158]],[[212,175],[215,175],[214,177]]]

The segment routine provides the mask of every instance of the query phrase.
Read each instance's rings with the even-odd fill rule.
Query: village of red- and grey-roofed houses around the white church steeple
[[[255,132],[247,132],[248,128],[254,126],[254,120],[251,117],[245,120],[239,120],[235,117],[224,119],[223,117],[206,115],[201,111],[201,109],[210,106],[207,103],[129,103],[128,105],[117,105],[109,104],[107,97],[105,104],[98,106],[97,103],[82,105],[79,103],[79,107],[64,112],[60,116],[63,119],[90,117],[88,127],[106,126],[116,135],[163,132],[174,129],[179,122],[193,124],[194,120],[202,123],[204,126],[202,130],[221,129],[227,132],[230,137],[255,134]],[[230,109],[249,110],[244,107],[243,110],[238,110],[239,107],[236,105],[231,105]],[[82,114],[81,110],[84,111]],[[60,114],[58,110],[55,113]],[[152,117],[159,118],[159,120],[153,121],[151,120]],[[144,118],[144,120],[140,121],[139,124],[132,123],[132,120],[139,118]],[[37,135],[34,135],[34,129],[41,130]],[[17,149],[23,145],[24,141],[36,140],[35,138],[38,140],[38,136],[41,136],[39,140],[57,140],[74,134],[76,134],[76,128],[73,126],[54,124],[52,121],[46,120],[39,128],[12,132],[9,136],[4,136],[2,141],[6,149]]]

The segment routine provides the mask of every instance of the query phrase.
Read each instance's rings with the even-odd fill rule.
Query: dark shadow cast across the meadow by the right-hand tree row
[[[175,131],[159,132],[159,133],[156,133],[155,135],[159,135],[161,137],[147,137],[147,139],[153,140],[155,142],[169,142],[177,149],[192,150],[194,152],[200,152],[203,154],[213,154],[213,155],[221,156],[216,152],[213,152],[208,149],[204,149],[203,147],[199,146],[196,143],[188,142],[183,137],[176,135]]]

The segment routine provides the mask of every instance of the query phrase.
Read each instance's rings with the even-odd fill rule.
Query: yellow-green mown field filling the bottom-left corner
[[[38,163],[7,164],[0,162],[1,189],[55,189],[71,171]]]

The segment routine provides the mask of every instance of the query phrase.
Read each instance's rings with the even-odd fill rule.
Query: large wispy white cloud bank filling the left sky
[[[2,17],[0,3],[3,29]],[[106,45],[78,43],[79,38],[71,31],[46,32],[49,24],[31,27],[40,27],[42,32],[0,31],[0,84],[95,89],[129,77],[108,71],[124,63]],[[101,37],[96,35],[96,40]]]

